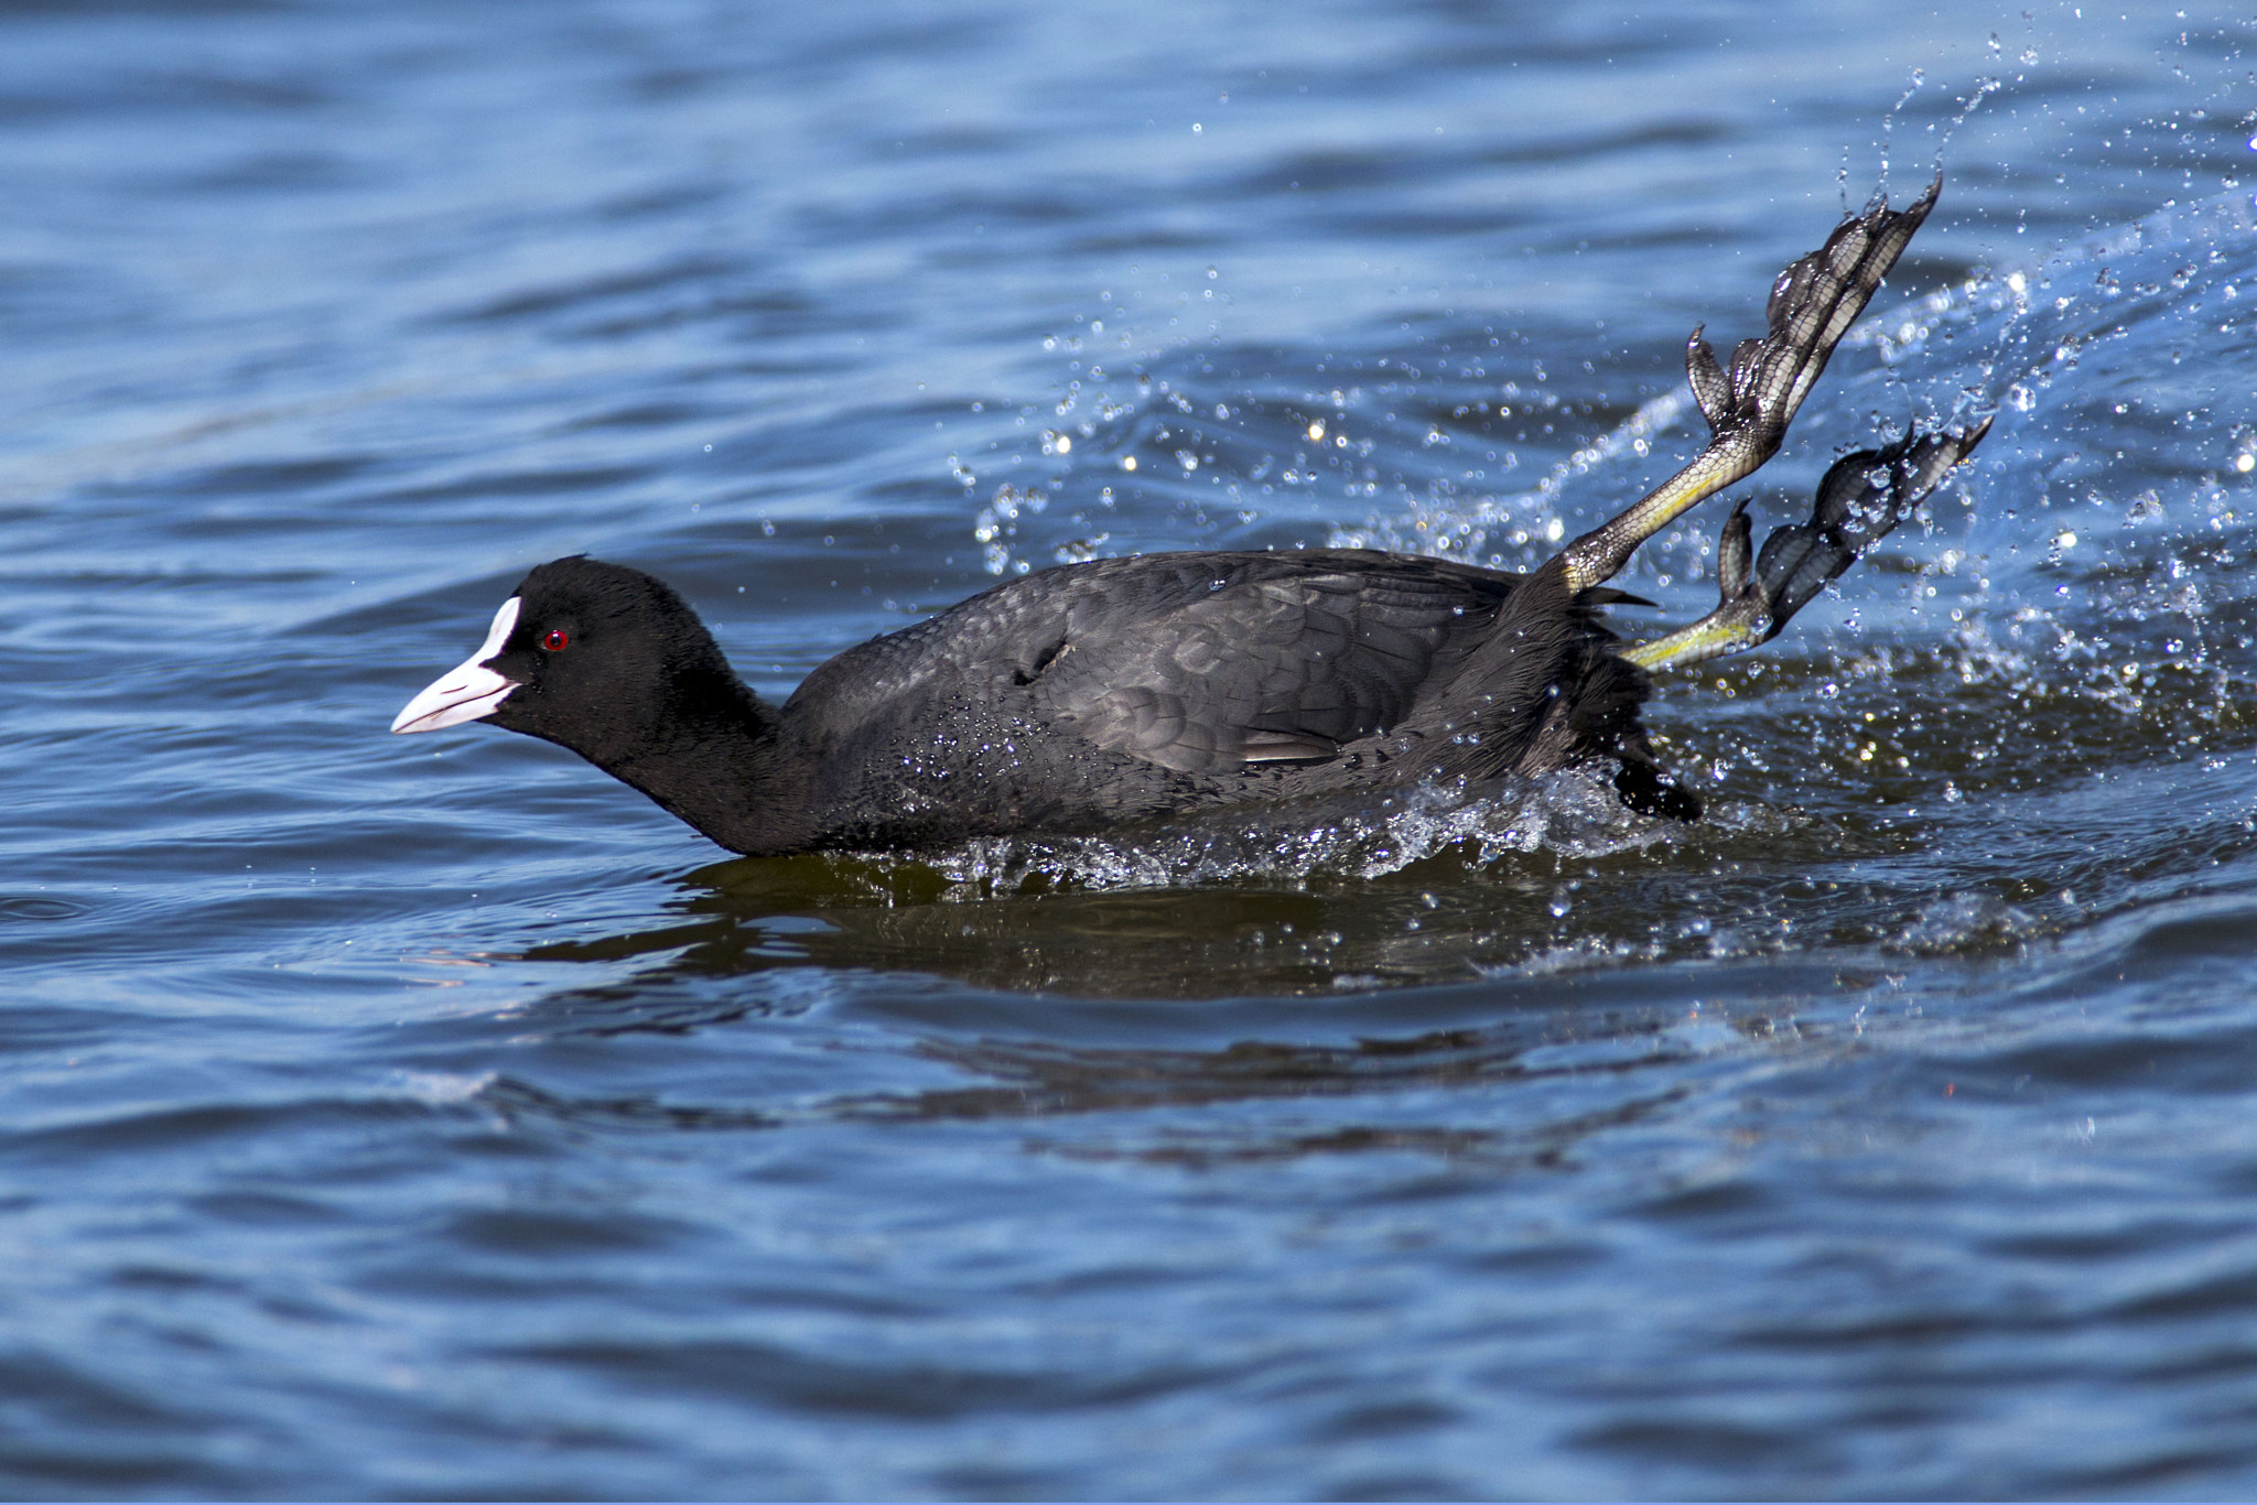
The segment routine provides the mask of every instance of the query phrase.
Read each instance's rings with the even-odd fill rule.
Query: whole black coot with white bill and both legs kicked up
[[[1988,420],[1846,456],[1810,521],[1760,555],[1736,508],[1724,600],[1663,639],[1625,648],[1598,609],[1636,598],[1605,580],[1779,449],[1939,187],[1844,217],[1779,275],[1769,332],[1729,368],[1695,329],[1706,449],[1526,575],[1354,548],[1065,564],[849,648],[770,706],[673,589],[571,557],[526,575],[478,652],[393,731],[488,720],[557,742],[758,855],[1090,833],[1580,765],[1611,769],[1632,808],[1693,819],[1639,724],[1648,672],[1776,636]]]

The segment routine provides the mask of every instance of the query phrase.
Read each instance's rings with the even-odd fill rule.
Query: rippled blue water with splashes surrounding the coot
[[[2257,38],[2083,11],[11,7],[0,1489],[2257,1489]],[[571,551],[763,690],[1530,562],[1885,156],[1758,492],[2000,422],[1663,686],[1704,826],[720,862],[384,733]]]

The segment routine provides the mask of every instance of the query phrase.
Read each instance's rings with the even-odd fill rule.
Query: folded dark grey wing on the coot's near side
[[[1097,560],[862,643],[792,699],[840,727],[1016,704],[1194,774],[1314,763],[1431,699],[1519,580],[1368,551]]]

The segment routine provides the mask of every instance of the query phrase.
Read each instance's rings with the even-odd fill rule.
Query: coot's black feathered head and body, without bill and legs
[[[928,846],[1611,760],[1693,815],[1636,722],[1645,675],[1557,569],[1372,551],[1065,564],[849,648],[783,702],[664,582],[557,560],[483,659],[485,715],[722,846]],[[544,648],[562,641],[562,648]]]

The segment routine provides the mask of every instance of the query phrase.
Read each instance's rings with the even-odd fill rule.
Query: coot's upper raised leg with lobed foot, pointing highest
[[[1943,187],[1939,176],[1905,210],[1878,194],[1862,214],[1846,217],[1826,244],[1779,273],[1765,307],[1769,332],[1740,341],[1731,370],[1700,329],[1686,341],[1686,379],[1709,420],[1709,447],[1681,472],[1621,517],[1569,544],[1560,560],[1573,591],[1611,580],[1639,544],[1654,537],[1686,508],[1722,492],[1779,454],[1788,422],[1803,406],[1833,347],[1889,275],[1912,232],[1927,219]]]

